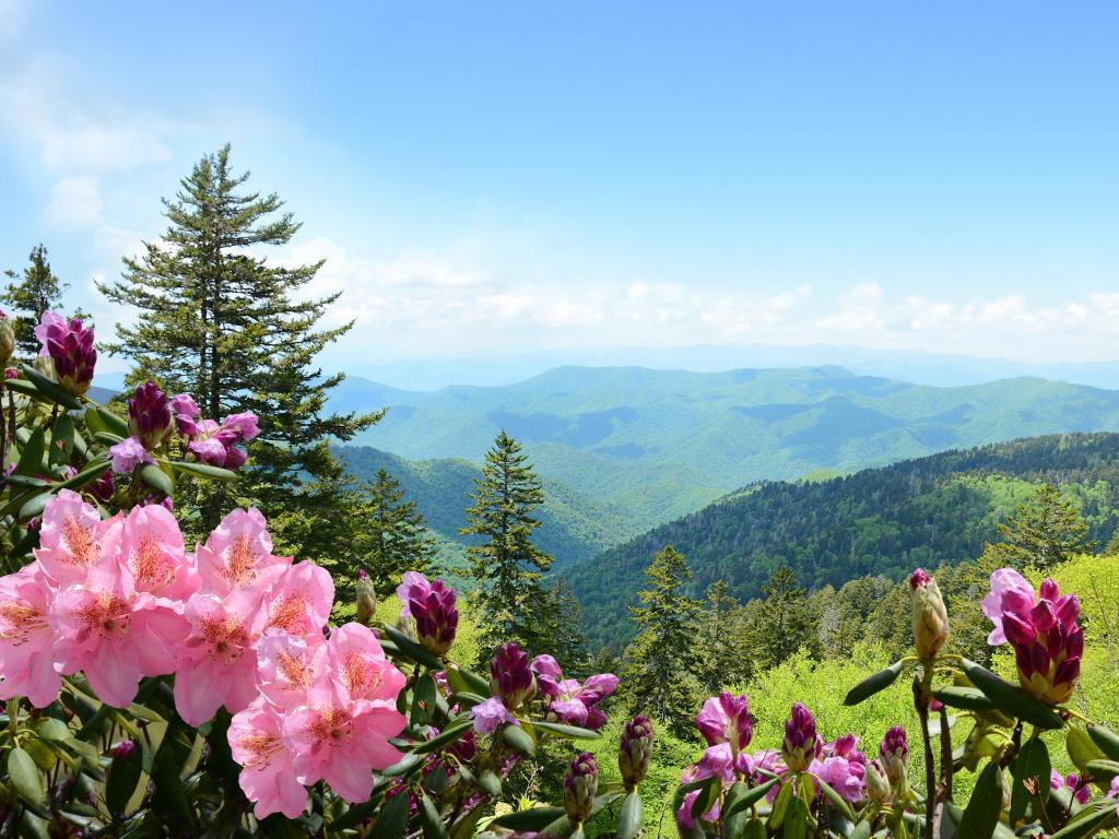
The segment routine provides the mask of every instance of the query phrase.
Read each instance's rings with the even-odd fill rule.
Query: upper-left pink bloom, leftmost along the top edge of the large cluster
[[[101,560],[102,538],[119,517],[101,520],[96,508],[73,490],[58,490],[43,510],[35,558],[57,585],[79,583]]]

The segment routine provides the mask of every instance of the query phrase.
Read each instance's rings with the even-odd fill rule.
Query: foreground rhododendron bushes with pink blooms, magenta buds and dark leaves
[[[642,715],[622,729],[618,782],[577,753],[562,801],[493,818],[513,767],[551,739],[599,736],[614,676],[573,678],[511,642],[486,673],[460,667],[457,593],[415,573],[392,624],[360,572],[356,620],[331,623],[330,575],[276,554],[253,508],[187,544],[177,489],[235,480],[257,418],[204,418],[156,383],[119,415],[88,398],[92,330],[48,313],[37,334],[43,353],[9,368],[2,392],[0,836],[641,833]],[[944,651],[930,575],[914,572],[910,590],[913,654],[847,703],[904,673],[896,698],[918,728],[861,744],[822,730],[808,696],[780,748],[758,750],[749,698],[721,692],[696,709],[705,746],[671,807],[681,837],[1072,839],[1119,824],[1119,737],[1069,706],[1084,645],[1075,595],[991,575],[982,611],[989,642],[1013,651],[1007,681]],[[1068,763],[1075,772],[1055,771]],[[976,777],[966,798],[959,773]]]

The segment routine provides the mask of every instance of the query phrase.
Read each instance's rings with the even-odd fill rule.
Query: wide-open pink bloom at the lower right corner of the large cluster
[[[321,678],[308,690],[307,704],[284,719],[295,776],[302,784],[326,781],[351,803],[365,801],[373,790],[373,771],[401,758],[388,738],[399,734],[405,722],[395,703],[354,700],[340,681]]]

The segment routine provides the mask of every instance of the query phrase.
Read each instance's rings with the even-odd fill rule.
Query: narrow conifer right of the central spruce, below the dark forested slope
[[[646,568],[648,587],[631,606],[639,633],[626,650],[623,685],[634,710],[680,737],[694,736],[692,720],[703,686],[695,673],[699,604],[684,593],[692,571],[681,554],[665,547]]]

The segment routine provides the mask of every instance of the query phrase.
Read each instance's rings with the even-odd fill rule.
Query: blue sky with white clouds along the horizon
[[[1119,357],[1115,3],[0,0],[0,265],[91,277],[225,141],[328,365],[615,346]]]

